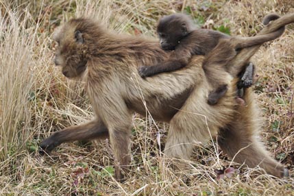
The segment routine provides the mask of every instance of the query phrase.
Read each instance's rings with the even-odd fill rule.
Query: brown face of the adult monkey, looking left
[[[79,77],[86,70],[87,47],[81,32],[72,27],[63,27],[54,34],[53,39],[58,42],[54,63],[62,67],[66,77]]]

